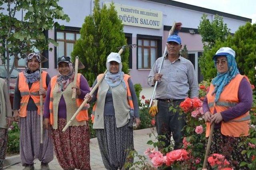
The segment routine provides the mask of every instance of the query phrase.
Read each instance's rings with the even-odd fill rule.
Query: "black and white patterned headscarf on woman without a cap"
[[[40,55],[38,53],[30,53],[27,57],[26,60],[26,69],[23,71],[24,76],[26,77],[26,82],[29,83],[34,83],[40,80],[40,72],[39,69],[40,67],[35,70],[35,71],[31,71],[28,68],[28,61],[30,61],[33,57],[36,57],[37,61],[39,62],[39,64],[41,63],[41,58]]]

